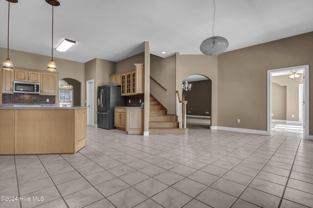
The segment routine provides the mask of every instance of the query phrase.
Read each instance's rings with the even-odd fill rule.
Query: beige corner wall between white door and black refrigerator
[[[110,82],[110,75],[115,74],[116,63],[103,60],[93,59],[85,63],[86,81],[93,80],[94,83],[94,106],[93,106],[93,122],[97,124],[97,87]]]

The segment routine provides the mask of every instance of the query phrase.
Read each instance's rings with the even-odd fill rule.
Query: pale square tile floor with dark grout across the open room
[[[209,129],[143,137],[88,126],[77,154],[0,156],[0,196],[18,195],[38,198],[0,207],[312,207],[313,141]]]

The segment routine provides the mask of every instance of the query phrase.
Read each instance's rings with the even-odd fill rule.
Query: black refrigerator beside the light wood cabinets
[[[120,86],[98,86],[97,121],[99,128],[113,129],[114,107],[125,106],[126,97],[121,96]]]

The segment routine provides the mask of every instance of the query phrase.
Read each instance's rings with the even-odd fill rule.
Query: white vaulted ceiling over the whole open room
[[[60,0],[54,9],[54,48],[76,41],[55,57],[119,61],[143,52],[168,57],[201,54],[212,36],[213,0]],[[0,1],[0,47],[6,45],[8,2]],[[227,51],[313,31],[313,0],[216,0],[215,35]],[[11,4],[10,48],[50,55],[51,6],[45,0]],[[162,54],[166,51],[166,54]]]

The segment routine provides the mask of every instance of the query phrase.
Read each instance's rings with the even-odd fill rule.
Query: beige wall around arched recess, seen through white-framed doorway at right
[[[281,86],[287,87],[286,88],[287,121],[299,121],[299,84],[303,83],[303,74],[299,75],[300,77],[296,79],[289,78],[289,75],[272,77],[272,83],[278,83]],[[294,115],[294,117],[292,118],[291,115]]]

